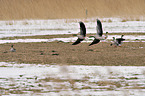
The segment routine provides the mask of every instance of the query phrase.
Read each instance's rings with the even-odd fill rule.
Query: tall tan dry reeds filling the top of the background
[[[145,16],[145,0],[0,0],[0,20]]]

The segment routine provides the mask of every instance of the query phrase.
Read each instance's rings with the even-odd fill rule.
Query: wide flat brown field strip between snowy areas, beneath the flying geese
[[[112,47],[100,43],[89,47],[88,43],[73,46],[71,43],[16,43],[16,52],[10,52],[11,44],[0,45],[0,61],[36,64],[76,64],[102,66],[144,66],[145,43],[124,43]]]

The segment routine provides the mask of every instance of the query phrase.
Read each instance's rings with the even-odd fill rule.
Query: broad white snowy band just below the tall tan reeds
[[[145,21],[120,22],[115,18],[113,22],[103,22],[104,32],[145,32]],[[34,35],[57,35],[77,34],[80,31],[79,19],[67,20],[21,20],[21,21],[0,21],[0,38],[13,36],[34,36]],[[96,19],[84,22],[88,33],[96,33]]]

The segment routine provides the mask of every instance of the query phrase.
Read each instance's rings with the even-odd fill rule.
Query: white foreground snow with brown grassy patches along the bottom
[[[145,95],[145,67],[36,65],[0,62],[6,95]]]

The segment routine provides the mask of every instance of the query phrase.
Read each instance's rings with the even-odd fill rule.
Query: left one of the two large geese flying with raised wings
[[[79,44],[86,37],[86,27],[85,27],[85,24],[83,22],[79,22],[79,24],[80,24],[80,35],[78,35],[78,39],[72,45]]]

